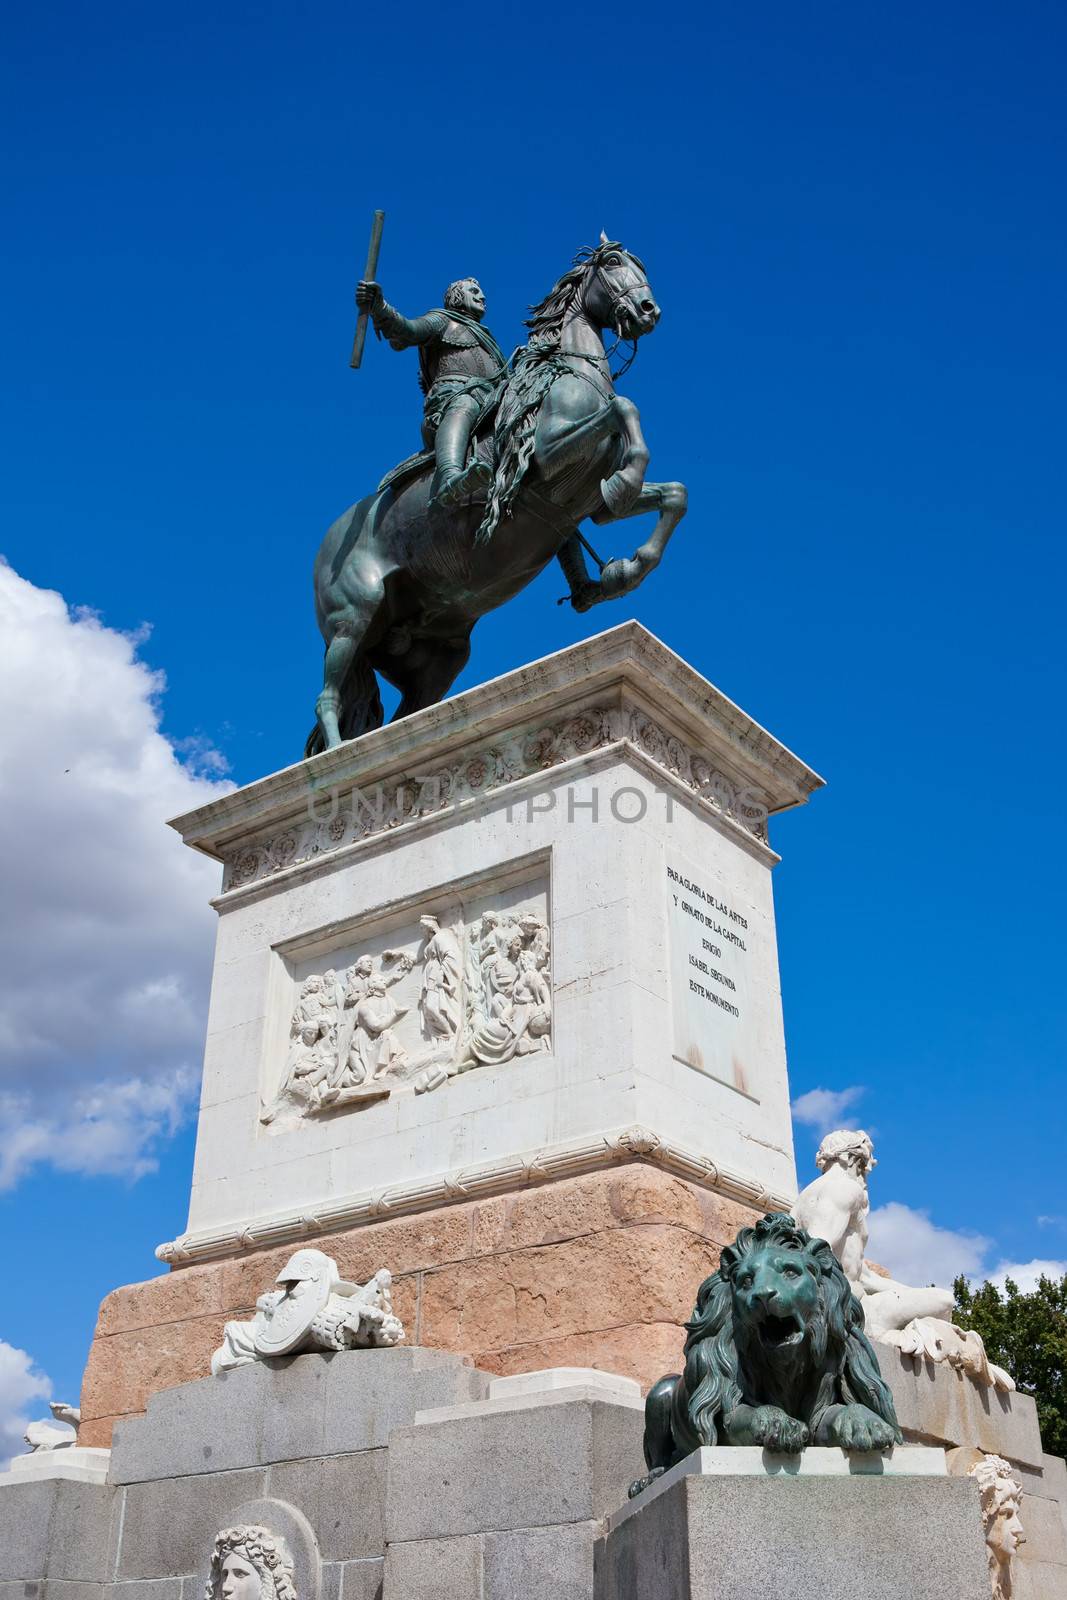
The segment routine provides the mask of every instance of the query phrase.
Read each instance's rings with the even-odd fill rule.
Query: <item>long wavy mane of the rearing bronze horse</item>
[[[510,510],[526,475],[541,403],[558,373],[565,370],[558,360],[560,334],[582,278],[590,267],[598,267],[613,251],[624,251],[624,246],[611,238],[601,238],[598,245],[579,250],[574,264],[561,278],[557,278],[545,298],[530,307],[531,315],[526,318],[530,339],[512,355],[512,373],[498,410],[496,470],[490,502],[475,534],[478,544],[493,538],[496,525],[504,512]],[[630,256],[633,266],[640,267],[641,272],[645,270],[645,264],[637,256],[630,251],[624,251],[624,254]]]

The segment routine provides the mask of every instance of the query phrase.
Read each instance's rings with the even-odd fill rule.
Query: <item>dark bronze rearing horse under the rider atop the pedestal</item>
[[[571,605],[630,594],[659,565],[686,510],[681,483],[646,483],[637,406],[616,395],[603,331],[637,341],[659,322],[645,267],[621,245],[585,250],[533,307],[493,438],[488,506],[429,504],[430,467],[349,507],[315,558],[326,640],[323,690],[307,755],[381,726],[374,674],[400,690],[395,717],[442,699],[470,654],[470,629],[558,557]],[[632,557],[590,578],[577,525],[659,512]]]

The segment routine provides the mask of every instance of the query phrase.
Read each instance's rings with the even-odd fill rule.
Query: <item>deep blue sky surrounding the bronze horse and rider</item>
[[[624,390],[689,515],[622,605],[577,618],[547,573],[478,626],[461,685],[637,616],[824,773],[774,829],[793,1091],[861,1091],[838,1107],[875,1131],[875,1203],[952,1235],[931,1274],[1064,1259],[1062,10],[219,10],[6,27],[0,550],[19,616],[58,590],[99,622],[51,611],[54,646],[24,629],[10,680],[5,880],[34,901],[8,906],[34,976],[8,968],[0,1000],[22,1152],[0,1338],[70,1398],[101,1296],[184,1224],[210,870],[181,890],[181,994],[138,1002],[181,1010],[150,1064],[133,1034],[115,1054],[115,1030],[64,1032],[86,862],[114,845],[78,763],[128,706],[157,774],[123,790],[147,878],[213,750],[237,782],[299,755],[317,542],[418,442],[413,357],[347,366],[374,206],[389,298],[416,312],[474,272],[506,347],[601,227],[648,262],[664,315]],[[78,842],[64,874],[27,846],[43,813]],[[11,1006],[35,982],[27,1053]]]

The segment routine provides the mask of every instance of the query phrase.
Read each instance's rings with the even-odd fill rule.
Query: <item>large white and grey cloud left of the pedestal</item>
[[[232,786],[160,731],[144,637],[0,562],[0,1189],[138,1178],[195,1094],[219,870],[165,821]]]

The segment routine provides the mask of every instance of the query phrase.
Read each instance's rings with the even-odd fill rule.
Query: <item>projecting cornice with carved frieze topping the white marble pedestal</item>
[[[729,829],[822,779],[638,622],[624,622],[174,818],[224,864],[222,901],[352,845],[630,746]],[[360,800],[357,803],[355,795]]]

